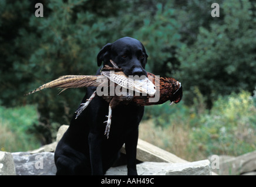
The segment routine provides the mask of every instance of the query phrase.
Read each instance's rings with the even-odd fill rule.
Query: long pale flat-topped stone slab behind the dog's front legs
[[[210,161],[187,163],[142,162],[137,164],[138,175],[211,175]],[[106,175],[127,175],[126,165],[110,168]]]

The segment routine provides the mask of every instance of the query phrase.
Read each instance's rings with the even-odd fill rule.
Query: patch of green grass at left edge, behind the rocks
[[[0,150],[8,152],[28,151],[41,146],[36,134],[29,133],[38,123],[36,106],[5,108],[0,106]]]

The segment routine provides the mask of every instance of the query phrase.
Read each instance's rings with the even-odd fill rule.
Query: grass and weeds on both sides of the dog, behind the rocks
[[[139,137],[188,161],[209,155],[238,156],[256,149],[256,93],[242,91],[219,97],[207,110],[203,95],[197,94],[193,106],[181,101],[146,106]],[[36,106],[0,106],[0,150],[27,151],[39,148]]]

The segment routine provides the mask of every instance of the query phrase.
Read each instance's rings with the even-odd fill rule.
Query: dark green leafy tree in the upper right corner
[[[218,94],[254,89],[255,3],[224,1],[220,6],[223,22],[211,22],[209,29],[199,27],[196,41],[184,44],[178,53],[181,64],[175,76],[184,83],[184,94],[190,95],[187,103],[193,101],[194,86],[207,96],[209,106]]]

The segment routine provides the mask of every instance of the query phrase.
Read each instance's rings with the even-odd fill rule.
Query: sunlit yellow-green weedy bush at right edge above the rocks
[[[200,117],[190,146],[206,155],[241,155],[256,148],[255,100],[249,92],[220,96],[209,115]]]

